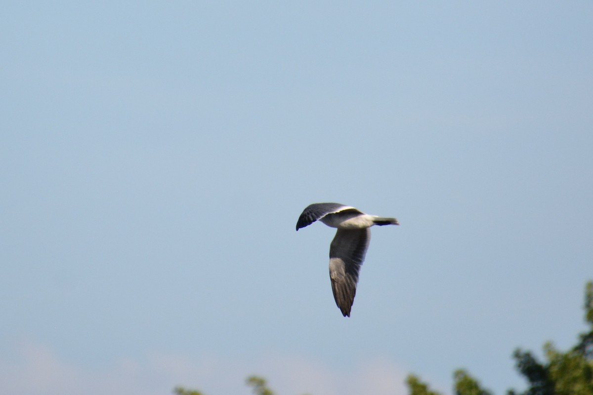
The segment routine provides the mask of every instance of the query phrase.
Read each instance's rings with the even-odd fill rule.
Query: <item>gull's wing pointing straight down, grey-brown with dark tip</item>
[[[331,290],[337,307],[350,317],[358,271],[371,241],[371,229],[338,229],[330,246]]]

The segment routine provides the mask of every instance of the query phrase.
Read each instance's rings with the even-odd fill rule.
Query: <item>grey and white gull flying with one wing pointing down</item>
[[[399,225],[397,219],[371,216],[358,208],[340,203],[314,203],[302,211],[297,230],[320,220],[337,228],[330,245],[330,280],[337,307],[345,317],[350,317],[354,303],[358,272],[365,260],[371,241],[373,225]]]

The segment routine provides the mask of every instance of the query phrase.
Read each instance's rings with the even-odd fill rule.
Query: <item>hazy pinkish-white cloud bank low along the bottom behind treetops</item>
[[[164,395],[181,385],[206,395],[250,394],[245,378],[269,379],[278,395],[405,395],[406,372],[388,358],[361,361],[349,370],[285,354],[256,361],[205,355],[154,354],[119,359],[104,367],[82,367],[63,361],[50,348],[34,343],[17,346],[14,358],[0,357],[0,393],[11,395]]]

